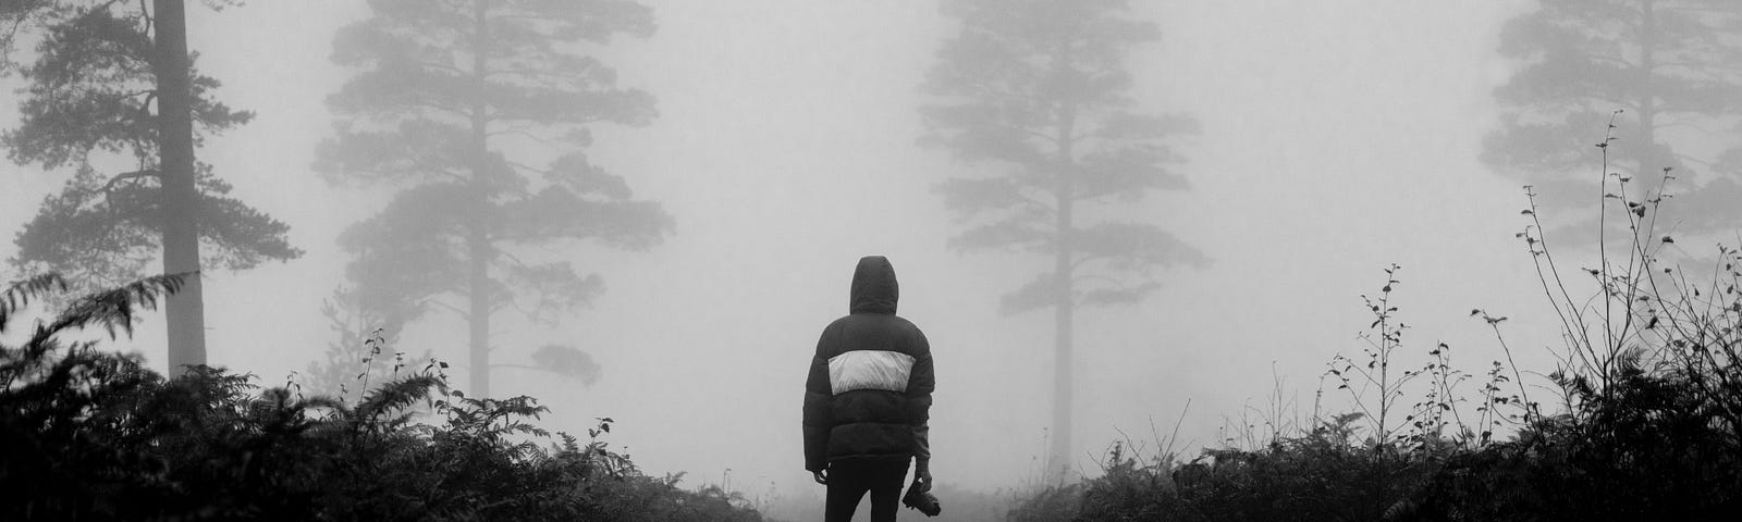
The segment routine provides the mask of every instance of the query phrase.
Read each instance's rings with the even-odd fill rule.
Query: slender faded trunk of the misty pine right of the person
[[[1071,345],[1075,341],[1075,322],[1077,322],[1077,299],[1073,296],[1073,278],[1075,270],[1071,261],[1075,258],[1075,224],[1071,223],[1071,214],[1075,207],[1075,186],[1071,176],[1075,176],[1075,157],[1071,151],[1071,134],[1075,134],[1077,111],[1070,104],[1059,106],[1059,129],[1057,129],[1057,216],[1054,238],[1057,252],[1052,258],[1052,324],[1054,324],[1054,362],[1052,362],[1052,447],[1047,451],[1047,468],[1049,473],[1057,473],[1063,482],[1070,477],[1071,463],[1071,409],[1073,392],[1075,392],[1075,371],[1073,371],[1073,353]]]

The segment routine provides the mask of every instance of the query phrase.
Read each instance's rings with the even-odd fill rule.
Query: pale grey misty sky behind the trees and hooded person
[[[1050,317],[1000,317],[996,304],[1047,259],[946,249],[958,228],[932,184],[977,167],[915,144],[918,85],[949,31],[935,3],[646,3],[657,35],[606,52],[624,85],[658,97],[660,117],[601,127],[589,153],[660,202],[676,235],[650,252],[561,251],[601,273],[606,294],[557,329],[503,322],[496,357],[524,360],[568,341],[598,358],[603,379],[584,388],[503,369],[496,395],[538,397],[554,430],[615,418],[610,440],[652,473],[688,472],[688,485],[732,468],[740,491],[820,494],[807,487],[800,449],[805,369],[820,329],[847,313],[857,258],[885,254],[901,315],[935,355],[934,473],[981,489],[1033,478],[1050,407]],[[1179,449],[1214,445],[1226,419],[1268,404],[1273,372],[1305,414],[1324,362],[1359,351],[1369,322],[1359,296],[1383,284],[1388,263],[1404,268],[1395,301],[1411,362],[1448,341],[1467,371],[1484,371],[1500,355],[1472,308],[1512,317],[1509,341],[1549,360],[1538,348],[1554,325],[1514,238],[1523,191],[1477,162],[1496,118],[1491,89],[1510,71],[1495,54],[1500,23],[1528,3],[1134,3],[1164,35],[1132,56],[1134,96],[1195,115],[1204,132],[1179,146],[1192,190],[1157,193],[1129,216],[1165,226],[1212,264],[1167,273],[1141,306],[1080,315],[1080,452],[1120,432],[1153,445],[1151,423],[1167,435],[1188,400]],[[190,9],[190,47],[225,82],[219,99],[258,113],[209,139],[200,160],[237,198],[289,223],[307,251],[211,273],[206,285],[213,364],[267,385],[333,339],[319,308],[347,261],[334,237],[388,195],[331,186],[308,167],[331,136],[324,97],[348,75],[327,61],[333,31],[362,16],[364,3],[348,0]],[[0,124],[16,125],[10,99]],[[5,172],[0,230],[10,238],[68,172]],[[12,251],[0,242],[0,254]],[[397,348],[463,360],[458,339],[463,322],[434,315]],[[124,346],[162,369],[159,322]],[[1087,456],[1080,465],[1094,473]]]

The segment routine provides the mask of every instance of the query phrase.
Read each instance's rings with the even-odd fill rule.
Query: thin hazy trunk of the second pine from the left
[[[479,398],[490,397],[490,261],[495,251],[490,247],[486,231],[490,207],[490,104],[484,101],[484,82],[488,77],[486,49],[490,44],[490,26],[486,19],[486,0],[472,2],[472,184],[474,202],[467,223],[467,258],[470,261],[470,306],[467,325],[470,327],[472,351],[472,393]]]

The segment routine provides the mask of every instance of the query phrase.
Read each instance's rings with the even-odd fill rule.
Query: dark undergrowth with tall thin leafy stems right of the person
[[[1420,367],[1402,364],[1392,266],[1367,301],[1364,357],[1340,355],[1327,371],[1354,412],[1315,412],[1306,430],[1190,461],[1117,445],[1103,477],[1042,491],[1010,520],[1728,520],[1742,510],[1742,252],[1719,247],[1707,275],[1660,261],[1676,242],[1651,226],[1674,176],[1627,186],[1631,176],[1608,169],[1613,141],[1597,143],[1615,195],[1599,207],[1624,238],[1599,235],[1597,264],[1568,271],[1589,275],[1592,298],[1563,280],[1526,188],[1519,238],[1566,339],[1547,386],[1524,385],[1505,317],[1484,310],[1472,317],[1495,331],[1507,360],[1474,395],[1460,392],[1474,376],[1444,343],[1421,350]],[[1406,405],[1408,393],[1421,400]]]

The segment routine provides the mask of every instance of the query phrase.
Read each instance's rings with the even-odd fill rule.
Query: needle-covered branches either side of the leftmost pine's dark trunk
[[[0,68],[26,80],[21,122],[0,144],[19,165],[71,171],[64,188],[45,197],[17,233],[12,264],[24,273],[63,271],[87,289],[138,278],[162,249],[164,219],[150,14],[113,2],[44,0],[9,9],[0,16],[14,30],[0,42],[35,37],[37,44],[33,59],[16,63],[9,54]],[[197,141],[253,118],[214,97],[216,78],[195,71],[192,84]],[[132,171],[98,167],[117,164],[115,157]],[[301,254],[286,240],[287,224],[228,197],[230,183],[209,165],[199,167],[197,184],[204,264],[247,270]]]

